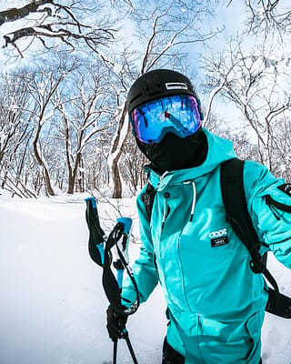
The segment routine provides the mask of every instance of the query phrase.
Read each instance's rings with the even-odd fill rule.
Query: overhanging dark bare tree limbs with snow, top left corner
[[[100,52],[100,45],[113,40],[115,30],[108,26],[109,19],[99,15],[96,25],[92,17],[92,14],[104,14],[101,1],[88,1],[85,4],[75,0],[62,3],[55,0],[27,0],[24,6],[0,12],[0,30],[1,25],[12,24],[4,32],[0,43],[3,47],[14,46],[23,57],[24,50],[35,40],[40,41],[45,48],[52,48],[55,47],[55,41],[52,40],[58,39],[71,50],[75,50],[77,44],[84,43],[96,53]],[[91,17],[88,16],[89,12]],[[83,21],[85,15],[86,19],[91,18],[92,23]],[[20,45],[23,39],[26,40],[25,46]]]

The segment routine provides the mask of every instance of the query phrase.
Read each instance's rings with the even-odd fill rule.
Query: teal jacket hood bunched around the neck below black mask
[[[164,177],[171,179],[172,183],[179,183],[204,176],[226,160],[237,157],[231,141],[212,134],[206,128],[202,130],[206,134],[208,144],[207,156],[204,163],[198,167],[169,171],[163,175],[157,173],[152,167],[146,166],[145,171],[149,173],[149,180],[153,186],[157,186]]]

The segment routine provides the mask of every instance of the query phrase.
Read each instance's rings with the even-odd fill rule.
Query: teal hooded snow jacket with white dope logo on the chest
[[[135,279],[142,302],[158,282],[162,286],[166,339],[186,364],[258,364],[266,283],[251,270],[245,245],[226,222],[220,191],[220,165],[236,154],[231,142],[203,130],[208,152],[201,166],[163,176],[146,167],[156,196],[150,219],[146,187],[137,198],[142,246]],[[289,185],[246,161],[244,186],[260,240],[291,268],[291,194],[283,188]],[[122,297],[134,301],[129,279]]]

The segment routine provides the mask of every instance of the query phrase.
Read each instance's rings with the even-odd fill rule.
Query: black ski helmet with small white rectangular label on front
[[[135,80],[127,95],[127,111],[130,115],[136,106],[156,98],[173,95],[192,95],[196,98],[201,120],[201,102],[188,77],[171,69],[156,69],[146,72]]]

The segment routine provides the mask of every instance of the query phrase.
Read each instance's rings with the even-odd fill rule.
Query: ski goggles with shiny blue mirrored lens
[[[191,136],[201,126],[196,98],[175,95],[137,106],[130,114],[134,135],[143,143],[159,143],[166,133]]]

